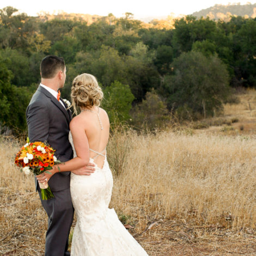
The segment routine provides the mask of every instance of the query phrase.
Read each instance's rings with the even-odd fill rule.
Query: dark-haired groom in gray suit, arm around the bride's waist
[[[61,162],[73,157],[69,143],[69,123],[71,111],[58,95],[58,89],[64,87],[66,66],[64,59],[57,56],[46,56],[40,64],[41,83],[27,107],[28,137],[31,142],[47,141]],[[89,165],[89,164],[88,164]],[[73,170],[78,175],[90,175],[91,166]],[[48,215],[45,256],[67,256],[69,232],[73,221],[74,208],[70,196],[70,172],[56,173],[48,185],[54,198],[42,200],[40,187],[35,178],[36,190],[42,206]]]

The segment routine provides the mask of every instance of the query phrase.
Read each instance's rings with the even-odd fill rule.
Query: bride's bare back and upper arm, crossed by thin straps
[[[99,107],[83,109],[72,119],[70,131],[77,156],[87,154],[102,168],[109,138],[109,119],[106,111]]]

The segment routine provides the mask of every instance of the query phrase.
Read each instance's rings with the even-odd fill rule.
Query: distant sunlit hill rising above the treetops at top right
[[[256,17],[256,4],[216,4],[214,7],[196,11],[192,16],[209,17],[211,20],[224,20],[227,21],[230,16],[242,16],[242,17]]]

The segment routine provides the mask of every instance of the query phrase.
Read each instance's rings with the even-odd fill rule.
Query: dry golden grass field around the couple
[[[222,125],[112,134],[110,207],[149,255],[256,255],[256,92],[239,97]],[[0,145],[0,255],[43,255],[47,216],[14,166],[22,142]]]

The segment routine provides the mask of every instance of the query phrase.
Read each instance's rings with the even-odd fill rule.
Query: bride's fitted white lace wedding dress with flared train
[[[75,153],[71,133],[69,140]],[[107,157],[103,156],[103,167],[95,164],[93,174],[81,176],[71,173],[70,192],[77,216],[71,256],[147,256],[119,221],[114,209],[108,209],[113,177]],[[90,162],[94,159],[90,158]]]

